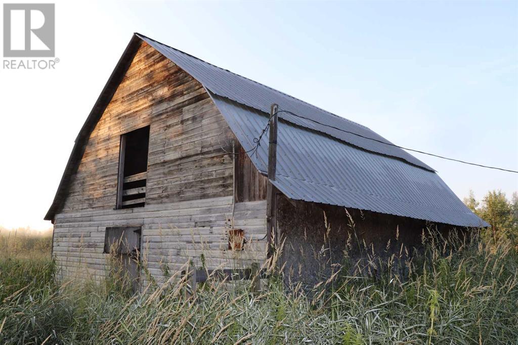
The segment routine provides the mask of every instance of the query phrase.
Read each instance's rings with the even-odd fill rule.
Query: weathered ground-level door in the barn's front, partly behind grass
[[[104,238],[104,253],[114,259],[111,274],[131,284],[133,293],[139,289],[140,235],[139,226],[114,226],[106,228]]]

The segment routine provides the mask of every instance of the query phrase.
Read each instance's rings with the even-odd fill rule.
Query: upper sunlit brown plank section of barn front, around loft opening
[[[90,135],[62,210],[113,207],[120,136],[149,125],[147,205],[232,195],[232,159],[221,151],[232,132],[203,85],[143,42]]]

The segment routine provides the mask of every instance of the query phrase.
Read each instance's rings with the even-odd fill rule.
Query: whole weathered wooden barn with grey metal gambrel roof
[[[429,224],[487,225],[433,168],[369,128],[140,34],[81,128],[45,219],[63,276],[103,277],[124,238],[120,254],[159,280],[164,265],[188,261],[262,264],[281,239],[285,267],[304,279],[316,275],[311,250],[326,241],[340,262],[351,231],[382,252],[396,232],[411,247]]]

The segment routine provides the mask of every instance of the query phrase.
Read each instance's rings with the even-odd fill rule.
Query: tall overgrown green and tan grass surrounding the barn
[[[509,344],[518,339],[518,256],[507,240],[496,245],[477,236],[469,242],[430,241],[411,262],[373,261],[376,276],[340,270],[310,292],[286,290],[274,275],[257,295],[250,293],[248,281],[229,287],[211,280],[186,296],[185,281],[171,277],[170,284],[130,296],[117,275],[101,284],[57,282],[48,235],[2,236],[0,343]]]

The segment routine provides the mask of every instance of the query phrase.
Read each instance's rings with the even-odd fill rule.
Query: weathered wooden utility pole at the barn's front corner
[[[275,246],[279,244],[277,234],[277,189],[270,181],[275,181],[277,169],[277,111],[279,106],[272,104],[270,108],[270,140],[268,145],[268,184],[266,189],[266,236],[268,238],[268,257],[273,253],[274,243],[272,234],[275,234]]]

